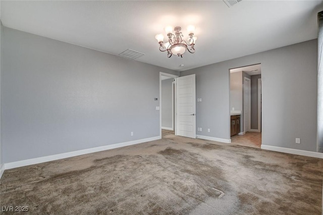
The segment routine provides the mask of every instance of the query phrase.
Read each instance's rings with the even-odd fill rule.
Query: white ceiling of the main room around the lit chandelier
[[[317,38],[323,1],[1,1],[9,28],[183,71]],[[154,36],[195,25],[196,52],[167,58]],[[166,35],[165,35],[166,37]],[[180,67],[184,64],[183,67]],[[242,65],[244,66],[244,65]]]

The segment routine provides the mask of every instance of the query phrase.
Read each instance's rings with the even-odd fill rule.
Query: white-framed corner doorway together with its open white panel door
[[[195,97],[195,74],[178,77],[159,73],[160,99],[156,110],[160,110],[160,137],[173,131],[175,135],[196,138]]]

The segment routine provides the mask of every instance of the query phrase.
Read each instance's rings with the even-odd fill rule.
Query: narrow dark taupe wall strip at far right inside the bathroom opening
[[[251,76],[251,129],[258,129],[258,78],[260,74]]]

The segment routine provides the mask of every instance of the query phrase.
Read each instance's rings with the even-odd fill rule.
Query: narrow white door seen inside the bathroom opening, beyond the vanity
[[[244,78],[244,132],[250,131],[251,118],[251,82],[249,78]]]

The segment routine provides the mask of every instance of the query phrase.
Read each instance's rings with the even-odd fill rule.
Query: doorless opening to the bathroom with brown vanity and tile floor
[[[231,143],[261,147],[261,64],[230,69]]]

